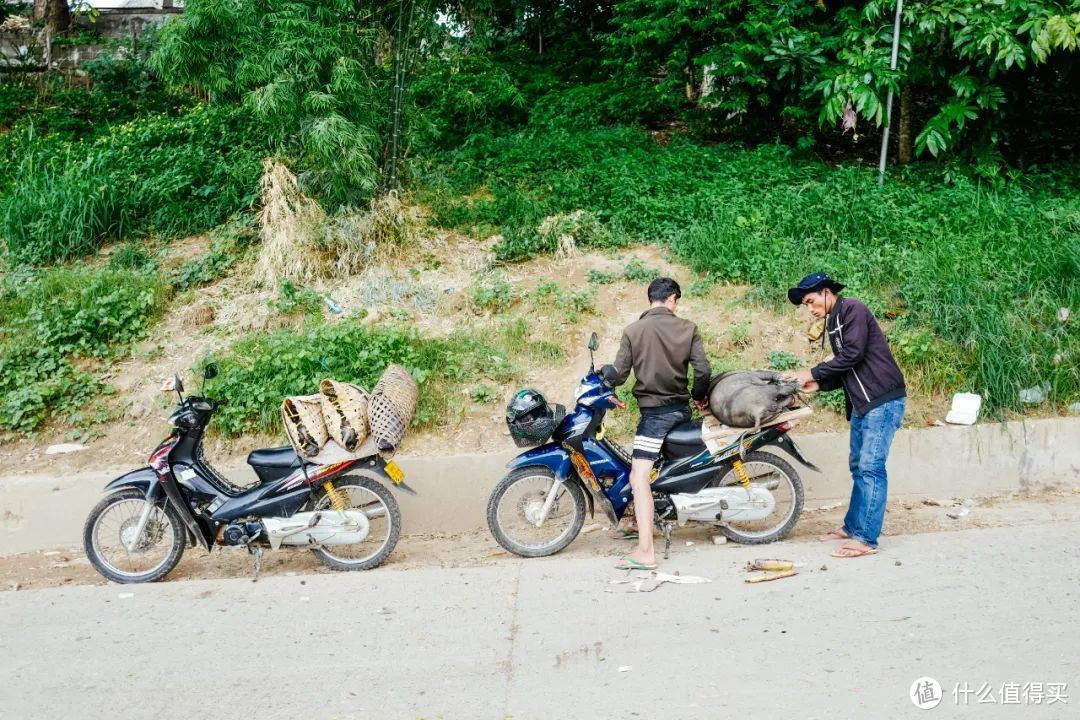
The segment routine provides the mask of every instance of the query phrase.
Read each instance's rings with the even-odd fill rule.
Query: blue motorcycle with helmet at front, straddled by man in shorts
[[[604,418],[624,408],[615,390],[596,371],[596,334],[589,340],[589,373],[567,412],[552,408],[536,391],[522,391],[519,408],[508,425],[518,446],[537,446],[508,464],[487,505],[491,534],[522,557],[554,555],[573,542],[585,514],[597,508],[612,526],[632,506],[630,453],[605,436]],[[535,397],[534,397],[535,396]],[[511,403],[514,407],[514,402]],[[785,412],[758,429],[710,427],[702,421],[677,425],[664,439],[652,471],[654,522],[671,547],[675,526],[687,522],[716,527],[734,542],[778,541],[795,527],[802,512],[802,480],[774,446],[802,465],[818,471],[787,435],[809,408]]]

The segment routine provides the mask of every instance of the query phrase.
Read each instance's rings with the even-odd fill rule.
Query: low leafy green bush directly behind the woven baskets
[[[369,328],[356,320],[321,325],[302,332],[278,331],[242,339],[218,358],[220,377],[210,392],[228,405],[215,416],[227,435],[278,431],[286,395],[307,394],[323,378],[370,389],[388,364],[404,365],[420,385],[414,424],[445,421],[450,398],[477,379],[510,380],[509,359],[484,340],[467,335],[423,338],[414,329]]]

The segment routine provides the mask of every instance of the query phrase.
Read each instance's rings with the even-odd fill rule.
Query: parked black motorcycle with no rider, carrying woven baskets
[[[217,373],[216,365],[207,365],[203,388]],[[335,570],[368,570],[393,552],[401,511],[383,483],[413,490],[374,444],[311,460],[292,447],[255,450],[247,463],[258,479],[241,487],[203,454],[203,434],[221,403],[184,397],[178,375],[162,390],[179,397],[168,418],[173,432],[148,467],[109,483],[86,518],[83,546],[103,575],[118,583],[161,580],[189,544],[207,552],[215,545],[246,547],[255,556],[256,578],[266,547],[307,547]]]

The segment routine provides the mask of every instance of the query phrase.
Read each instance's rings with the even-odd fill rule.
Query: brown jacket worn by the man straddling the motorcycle
[[[688,365],[693,365],[693,399],[704,399],[712,368],[698,326],[667,308],[650,308],[623,330],[615,371],[607,379],[621,385],[633,370],[638,407],[686,404],[691,395]]]

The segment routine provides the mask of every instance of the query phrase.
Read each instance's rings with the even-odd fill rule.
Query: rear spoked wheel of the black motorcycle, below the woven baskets
[[[402,513],[397,501],[381,483],[368,477],[346,476],[334,483],[346,510],[359,510],[370,524],[367,538],[351,545],[324,545],[312,553],[334,570],[370,570],[394,552],[402,531]],[[334,512],[326,490],[320,488],[315,512]]]

